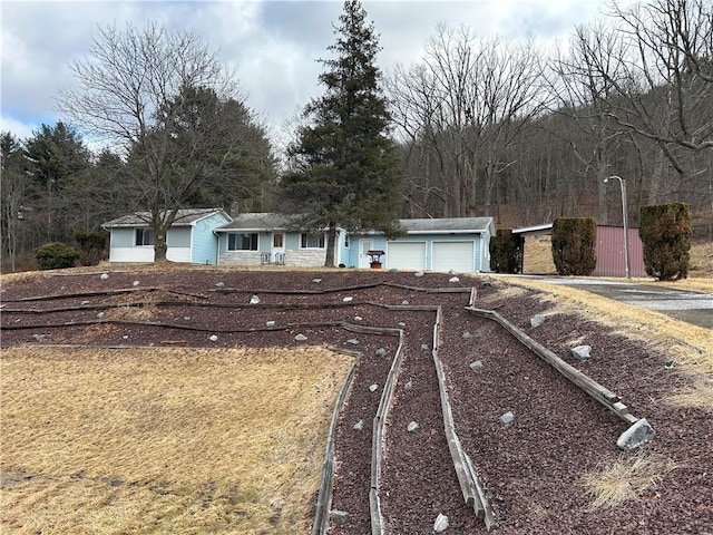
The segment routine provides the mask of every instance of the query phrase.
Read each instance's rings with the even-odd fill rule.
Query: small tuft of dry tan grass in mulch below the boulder
[[[675,468],[671,459],[636,455],[586,474],[583,485],[593,498],[592,509],[616,507],[641,499]]]

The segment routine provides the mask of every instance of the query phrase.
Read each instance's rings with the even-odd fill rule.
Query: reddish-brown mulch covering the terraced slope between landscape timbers
[[[666,396],[692,379],[664,368],[666,356],[592,319],[561,311],[536,329],[530,318],[551,303],[530,291],[506,292],[499,282],[451,275],[382,271],[173,271],[99,272],[8,281],[1,299],[1,344],[170,347],[296,347],[328,344],[362,353],[336,432],[332,509],[349,513],[330,533],[370,533],[372,419],[398,338],[354,333],[344,323],[402,329],[403,364],[385,431],[381,506],[389,534],[486,533],[463,504],[443,434],[431,350],[433,310],[440,307],[440,344],[456,431],[481,478],[501,534],[711,534],[713,533],[713,420],[702,410],[674,407]],[[319,280],[319,282],[316,282]],[[484,284],[485,282],[485,284]],[[495,322],[466,311],[478,301],[616,392],[656,430],[637,451],[617,449],[626,424],[587,397]],[[462,288],[462,292],[427,290]],[[131,290],[125,293],[90,294]],[[144,289],[147,289],[144,291]],[[183,292],[183,293],[175,293]],[[302,292],[302,293],[299,293]],[[46,300],[21,301],[46,295]],[[257,295],[258,304],[250,304]],[[352,298],[345,302],[344,298]],[[42,310],[61,309],[41,313]],[[356,319],[359,317],[360,319]],[[268,322],[274,321],[274,327]],[[47,327],[49,324],[61,327]],[[72,324],[75,323],[75,324]],[[27,329],[13,329],[27,327]],[[295,341],[296,334],[307,337]],[[211,337],[217,337],[212,340]],[[352,343],[354,340],[358,344]],[[577,363],[569,342],[592,346]],[[387,357],[377,350],[385,349]],[[473,371],[470,363],[480,360]],[[372,392],[369,387],[377,385]],[[511,411],[515,421],[499,418]],[[363,420],[361,431],[354,424]],[[409,422],[419,424],[416,432]],[[585,473],[637,455],[671,459],[676,468],[636,502],[593,509]]]

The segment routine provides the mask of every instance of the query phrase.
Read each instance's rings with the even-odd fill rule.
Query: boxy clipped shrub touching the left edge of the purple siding
[[[557,217],[553,260],[560,275],[589,275],[597,265],[597,223],[593,217]]]

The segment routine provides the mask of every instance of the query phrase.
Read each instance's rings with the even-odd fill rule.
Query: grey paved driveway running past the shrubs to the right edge
[[[525,279],[576,286],[615,301],[655,310],[677,320],[713,330],[713,294],[653,284],[597,279],[520,275]]]

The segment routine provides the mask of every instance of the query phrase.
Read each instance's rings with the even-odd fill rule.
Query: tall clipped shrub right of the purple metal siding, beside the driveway
[[[638,235],[646,273],[660,281],[685,279],[691,251],[691,211],[687,204],[642,206]]]

